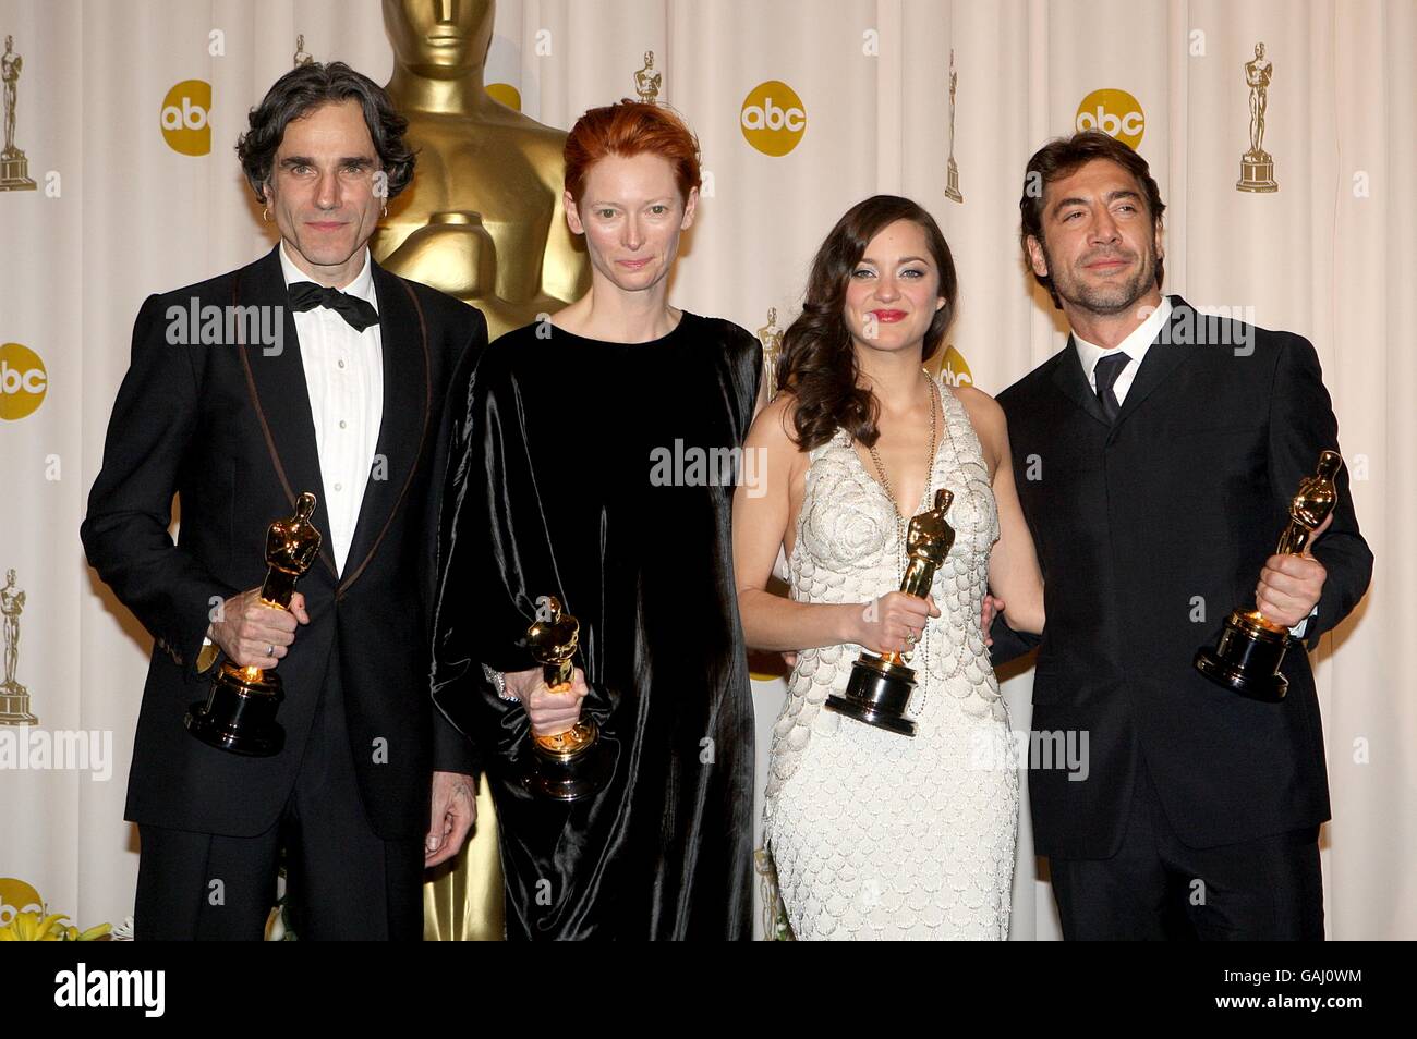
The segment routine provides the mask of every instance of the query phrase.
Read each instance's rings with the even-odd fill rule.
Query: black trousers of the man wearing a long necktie
[[[1134,791],[1112,858],[1050,859],[1064,938],[1323,940],[1318,827],[1190,848],[1141,757]]]

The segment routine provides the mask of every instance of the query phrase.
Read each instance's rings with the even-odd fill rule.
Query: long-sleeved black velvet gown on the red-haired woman
[[[527,326],[455,384],[439,527],[435,702],[497,804],[509,938],[747,938],[752,702],[733,576],[731,467],[762,348],[684,311],[650,343]],[[730,454],[731,453],[731,454]],[[581,624],[575,664],[614,776],[575,803],[521,786],[530,723],[482,664],[536,667],[538,596]]]

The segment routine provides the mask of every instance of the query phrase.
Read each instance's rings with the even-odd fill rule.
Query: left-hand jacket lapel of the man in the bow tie
[[[238,270],[231,283],[231,303],[241,307],[281,307],[285,338],[281,350],[261,344],[242,344],[241,368],[256,419],[265,435],[266,450],[275,466],[281,487],[295,510],[295,500],[303,491],[320,498],[310,521],[320,531],[320,561],[336,580],[334,553],[330,551],[330,522],[324,508],[324,478],[320,474],[320,454],[315,443],[315,416],[305,384],[305,364],[300,360],[300,340],[295,330],[295,311],[281,273],[276,245],[265,259]],[[238,323],[239,324],[239,323]],[[271,517],[275,520],[276,517]]]

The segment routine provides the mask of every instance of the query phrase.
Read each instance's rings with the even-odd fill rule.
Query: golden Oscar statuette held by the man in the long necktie
[[[1305,551],[1314,528],[1338,504],[1333,478],[1342,467],[1343,459],[1338,452],[1319,456],[1318,471],[1299,483],[1298,494],[1289,503],[1289,525],[1280,535],[1275,555],[1301,555]],[[1280,674],[1289,641],[1289,630],[1267,620],[1258,609],[1236,610],[1226,619],[1214,648],[1203,645],[1196,651],[1196,670],[1241,696],[1278,704],[1289,689],[1289,679]]]

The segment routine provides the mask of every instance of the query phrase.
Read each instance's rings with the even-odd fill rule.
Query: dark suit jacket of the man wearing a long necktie
[[[1115,852],[1141,756],[1193,846],[1329,818],[1305,647],[1285,655],[1281,704],[1238,696],[1192,667],[1230,610],[1253,609],[1299,480],[1339,446],[1318,357],[1299,335],[1172,303],[1114,425],[1071,340],[999,395],[1046,582],[1029,769],[1040,855]],[[1346,469],[1338,488],[1333,524],[1314,548],[1328,579],[1309,648],[1372,576]],[[1067,733],[1085,773],[1057,753],[1049,767],[1043,750],[1067,747]]]

